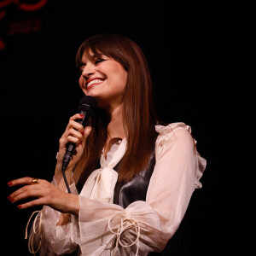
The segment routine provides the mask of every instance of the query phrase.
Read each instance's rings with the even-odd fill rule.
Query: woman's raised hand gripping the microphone
[[[67,143],[76,144],[75,154],[73,154],[73,158],[70,161],[69,165],[67,166],[67,172],[72,172],[73,167],[78,162],[81,155],[83,154],[86,137],[88,137],[90,134],[91,127],[87,126],[84,128],[83,125],[75,121],[76,119],[83,119],[83,115],[79,113],[73,115],[69,119],[66,131],[64,131],[63,135],[60,138],[59,153],[57,156],[57,165],[56,165],[56,169],[58,172],[61,171],[62,161],[64,159],[64,156],[67,150]]]

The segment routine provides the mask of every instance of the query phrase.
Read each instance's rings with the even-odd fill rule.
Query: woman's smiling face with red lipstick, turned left
[[[79,85],[87,96],[96,98],[98,107],[115,108],[125,92],[127,72],[118,62],[106,55],[88,58],[83,55]]]

